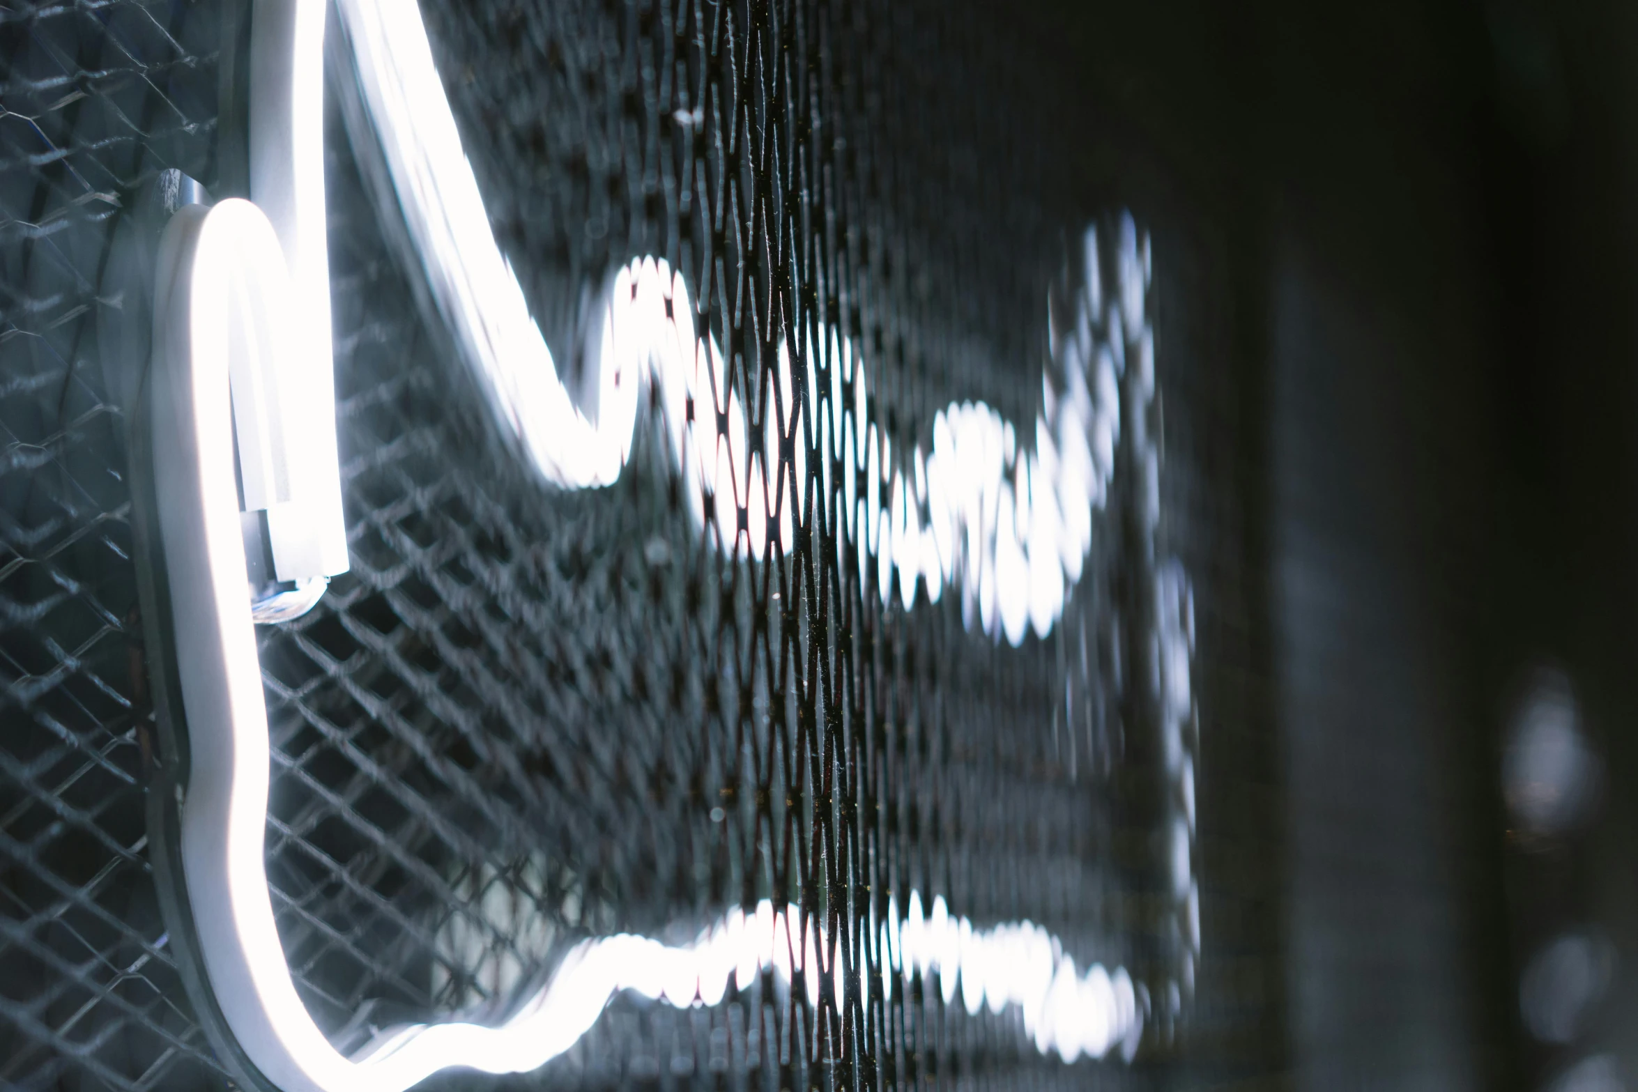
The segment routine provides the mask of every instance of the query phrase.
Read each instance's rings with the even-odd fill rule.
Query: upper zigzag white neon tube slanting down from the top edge
[[[1043,378],[1042,413],[1022,437],[983,403],[950,406],[935,416],[932,449],[917,447],[894,463],[888,437],[870,421],[863,360],[822,326],[798,354],[806,360],[803,399],[794,396],[790,347],[780,344],[780,414],[763,414],[765,435],[752,437],[716,339],[695,327],[681,277],[654,259],[619,270],[608,288],[588,344],[588,359],[600,367],[583,409],[559,377],[490,229],[419,10],[382,0],[339,7],[359,90],[432,296],[500,419],[549,481],[567,488],[614,481],[631,450],[639,393],[652,380],[695,519],[704,524],[711,496],[726,550],[763,560],[770,532],[785,548],[794,545],[806,463],[817,453],[824,503],[832,486],[845,498],[845,511],[830,512],[839,553],[847,540],[862,547],[862,583],[875,557],[883,599],[896,573],[906,607],[917,583],[929,599],[948,584],[960,589],[970,620],[1014,645],[1029,629],[1037,635],[1052,629],[1079,580],[1093,540],[1091,511],[1104,504],[1114,472],[1117,368],[1125,352],[1119,331],[1132,332],[1140,381],[1153,390],[1155,342],[1143,314],[1148,247],[1130,219],[1111,306],[1114,349],[1094,345],[1091,324],[1102,301],[1093,280],[1061,354],[1066,390],[1058,395]],[[1088,249],[1096,254],[1091,236]],[[716,422],[724,417],[719,434]],[[768,455],[780,450],[781,435],[794,440],[794,467],[783,480]],[[832,460],[845,467],[839,483],[830,480]]]

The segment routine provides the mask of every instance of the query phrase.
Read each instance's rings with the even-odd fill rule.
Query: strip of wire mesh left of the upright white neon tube
[[[120,210],[210,177],[208,5],[0,13],[0,1085],[174,1087],[215,1071],[146,863],[144,670],[123,424],[100,370]]]

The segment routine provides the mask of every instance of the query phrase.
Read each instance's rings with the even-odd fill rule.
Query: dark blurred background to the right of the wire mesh
[[[1040,31],[1117,133],[1071,142],[1088,175],[1201,224],[1253,437],[1268,658],[1248,686],[1278,738],[1279,848],[1256,851],[1227,789],[1202,789],[1202,830],[1207,861],[1209,832],[1243,833],[1217,860],[1261,861],[1279,910],[1217,918],[1243,925],[1268,1007],[1202,1012],[1183,1069],[1523,1089],[1613,1049],[1630,1081],[1630,969],[1559,1049],[1522,1030],[1517,982],[1572,922],[1630,961],[1638,920],[1638,10],[1084,5]],[[1592,827],[1545,850],[1510,838],[1497,776],[1538,663],[1609,763]]]

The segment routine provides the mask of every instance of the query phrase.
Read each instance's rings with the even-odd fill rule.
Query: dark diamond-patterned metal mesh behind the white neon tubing
[[[862,347],[898,450],[952,401],[1037,413],[1043,301],[1086,277],[1088,218],[1034,108],[1053,85],[1004,26],[868,2],[423,10],[560,359],[580,285],[657,254],[693,278],[752,416],[780,331],[816,319]],[[98,311],[124,303],[103,283],[121,210],[164,169],[223,174],[223,41],[205,3],[0,15],[5,1087],[226,1081],[147,866],[124,424],[97,344]],[[842,992],[808,1005],[763,976],[713,1009],[622,995],[536,1074],[431,1084],[1132,1081],[1040,1056],[1016,1013],[970,1017],[937,981],[885,987],[848,925],[919,891],[976,925],[1043,923],[1083,963],[1183,974],[1147,683],[1153,575],[1178,553],[1210,589],[1235,562],[1197,530],[1232,522],[1202,485],[1202,447],[1232,427],[1189,416],[1171,327],[1173,403],[1148,409],[1158,529],[1127,429],[1063,622],[1011,648],[958,596],[906,611],[873,565],[862,584],[858,544],[839,550],[822,516],[788,557],[726,558],[645,426],[619,485],[534,481],[413,306],[334,116],[328,185],[352,571],[313,614],[260,630],[274,909],[324,1031],[351,1046],[403,1020],[491,1017],[577,938],[685,940],[771,897],[853,938]],[[1119,219],[1099,224],[1112,267]],[[1165,247],[1156,267],[1165,300]],[[1202,611],[1207,661],[1212,634],[1242,639],[1215,617]],[[1163,1053],[1171,1017],[1161,999],[1155,1012],[1145,1049]]]

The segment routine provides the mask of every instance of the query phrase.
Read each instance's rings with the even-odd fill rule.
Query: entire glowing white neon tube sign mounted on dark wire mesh
[[[896,573],[906,606],[917,583],[932,599],[948,586],[963,596],[970,619],[1014,645],[1030,627],[1040,635],[1050,630],[1079,578],[1091,511],[1106,503],[1120,429],[1115,372],[1125,362],[1114,354],[1125,352],[1125,339],[1117,332],[1109,347],[1099,347],[1088,332],[1089,316],[1104,306],[1096,278],[1078,305],[1076,332],[1055,347],[1068,363],[1066,388],[1060,393],[1043,381],[1043,409],[1034,437],[1024,440],[981,403],[950,406],[935,417],[930,450],[916,449],[894,462],[888,439],[870,422],[863,362],[847,339],[821,327],[817,344],[799,354],[806,398],[796,396],[791,354],[781,345],[775,381],[786,419],[770,416],[765,444],[750,444],[747,414],[737,391],[727,390],[717,345],[695,329],[681,278],[654,259],[619,270],[608,287],[604,319],[595,331],[596,393],[577,404],[495,246],[419,11],[382,0],[341,0],[339,7],[434,291],[488,377],[503,419],[547,480],[568,488],[614,481],[629,455],[639,390],[649,380],[663,403],[676,465],[695,486],[688,491],[695,519],[706,524],[706,498],[713,498],[722,548],[763,560],[770,540],[793,542],[803,516],[785,486],[806,478],[809,452],[796,445],[788,483],[770,480],[760,452],[778,450],[781,434],[801,434],[806,426],[817,437],[826,496],[844,498],[845,511],[830,512],[832,526],[868,544],[858,555],[862,563],[875,558],[883,596]],[[264,864],[267,712],[244,596],[229,385],[236,396],[244,385],[270,391],[257,408],[260,416],[246,417],[241,431],[259,460],[256,499],[265,501],[270,527],[282,527],[274,532],[277,573],[301,581],[280,609],[305,609],[314,588],[323,589],[314,581],[346,568],[334,434],[328,431],[334,390],[318,157],[323,2],[257,0],[254,18],[252,103],[259,105],[252,108],[251,167],[252,196],[262,208],[247,201],[187,208],[167,228],[151,396],[161,539],[190,725],[183,871],[211,989],[246,1054],[288,1092],[401,1092],[455,1066],[534,1069],[572,1046],[621,990],[673,1005],[714,1004],[731,981],[745,986],[763,969],[785,982],[801,976],[809,1004],[819,1002],[826,977],[835,990],[862,987],[844,976],[839,938],[826,936],[794,907],[775,910],[763,902],[750,915],[729,912],[675,948],[629,935],[585,941],[547,987],[498,1027],[398,1028],[347,1058],[314,1025],[278,941]],[[1091,237],[1088,246],[1094,246]],[[1152,396],[1147,283],[1147,246],[1127,221],[1109,321],[1117,331],[1142,331],[1133,339],[1135,375]],[[287,323],[292,316],[305,321]],[[265,367],[274,362],[288,367]],[[819,396],[821,386],[829,398]],[[308,391],[303,406],[311,416],[292,411],[292,390]],[[727,432],[696,429],[690,401],[711,406],[713,419],[724,416]],[[832,460],[853,472],[844,472],[835,490]],[[744,534],[740,509],[749,522]],[[868,570],[860,570],[860,581],[868,583]],[[1183,733],[1192,717],[1192,601],[1186,581],[1158,594],[1163,614],[1188,619],[1171,630],[1163,622],[1160,640],[1173,658],[1156,658],[1156,678],[1166,679],[1173,697],[1183,694],[1176,715],[1168,714],[1173,735],[1166,745],[1168,768],[1186,786],[1179,787],[1186,820],[1176,843],[1176,884],[1189,907],[1191,950],[1197,950],[1192,758]],[[1174,663],[1178,640],[1186,647]],[[1112,1049],[1130,1058],[1137,1049],[1147,989],[1124,968],[1093,964],[1081,972],[1038,925],[980,930],[952,915],[942,897],[924,915],[921,896],[911,892],[903,915],[894,902],[886,922],[853,928],[863,943],[852,950],[871,953],[888,989],[896,976],[937,972],[947,1004],[960,994],[971,1013],[1016,1007],[1035,1046],[1065,1061]],[[868,974],[868,966],[867,958],[853,972]]]

